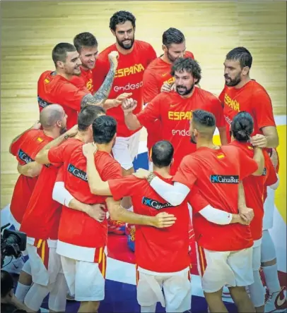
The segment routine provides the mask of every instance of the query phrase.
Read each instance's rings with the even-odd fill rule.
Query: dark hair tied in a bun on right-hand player
[[[231,122],[231,133],[236,140],[247,142],[253,133],[254,121],[250,113],[242,111],[237,113]]]

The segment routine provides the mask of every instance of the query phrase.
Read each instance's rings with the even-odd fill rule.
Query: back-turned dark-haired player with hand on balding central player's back
[[[93,138],[100,150],[95,159],[93,157],[93,161],[104,180],[122,177],[119,163],[110,155],[115,142],[116,125],[115,119],[110,116],[99,116],[93,122]],[[66,190],[75,199],[84,203],[104,203],[105,197],[90,193],[86,177],[86,158],[83,156],[82,147],[74,149],[72,154],[61,150],[54,153],[53,161],[63,160]],[[64,203],[69,205],[69,201],[64,200]],[[61,262],[70,291],[75,294],[76,300],[81,301],[80,310],[95,312],[98,310],[100,300],[104,297],[107,219],[102,222],[96,221],[83,212],[71,210],[66,205],[61,214],[57,253],[61,254]],[[115,218],[123,215],[136,216],[131,219],[131,222],[158,225],[158,218],[148,220],[146,216],[137,216],[125,211],[118,207],[116,211],[110,211],[110,214]]]

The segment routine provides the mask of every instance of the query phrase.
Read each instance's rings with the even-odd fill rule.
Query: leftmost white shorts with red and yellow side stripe
[[[39,240],[37,247],[27,243],[32,280],[42,286],[56,281],[61,272],[61,258],[56,253],[57,240]]]

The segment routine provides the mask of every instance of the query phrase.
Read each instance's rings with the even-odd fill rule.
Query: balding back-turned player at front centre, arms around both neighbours
[[[83,149],[85,148],[83,147]],[[157,142],[152,147],[153,171],[156,176],[168,184],[172,184],[170,166],[173,152],[172,145],[165,140]],[[93,151],[89,153],[91,155],[87,158],[91,160]],[[179,207],[173,207],[172,204],[165,202],[156,194],[146,180],[139,180],[135,176],[126,176],[122,179],[104,182],[101,180],[95,164],[89,161],[87,174],[91,188],[98,195],[112,195],[115,200],[131,196],[136,213],[155,216],[158,211],[165,211],[175,215],[177,219],[175,225],[164,230],[136,226],[137,299],[141,305],[141,312],[155,312],[156,302],[161,302],[167,312],[185,312],[190,309],[189,209],[187,201],[192,206],[196,205],[200,214],[206,216],[207,213],[211,213],[213,223],[218,222],[215,216],[222,216],[222,214],[228,216],[229,214],[210,207],[208,202],[194,190]],[[232,218],[236,219],[235,216]],[[228,218],[226,217],[226,219]],[[168,262],[166,262],[167,259]],[[161,285],[163,285],[164,295]],[[173,290],[176,290],[176,293]],[[156,297],[154,293],[156,293]]]

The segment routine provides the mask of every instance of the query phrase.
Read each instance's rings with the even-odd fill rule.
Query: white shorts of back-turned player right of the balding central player
[[[252,247],[217,252],[196,246],[201,285],[206,293],[215,293],[225,285],[239,287],[253,283]]]

